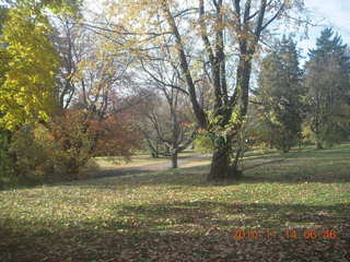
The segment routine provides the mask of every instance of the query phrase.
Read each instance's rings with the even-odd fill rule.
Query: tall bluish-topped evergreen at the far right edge
[[[307,123],[316,148],[331,146],[348,133],[350,59],[347,45],[331,28],[322,32],[305,64]]]

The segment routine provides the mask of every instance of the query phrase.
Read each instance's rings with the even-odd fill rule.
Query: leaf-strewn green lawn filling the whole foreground
[[[237,181],[203,165],[0,191],[0,261],[350,261],[349,144],[244,166]]]

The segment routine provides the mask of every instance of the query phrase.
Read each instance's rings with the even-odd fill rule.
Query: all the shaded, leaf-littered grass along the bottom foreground
[[[302,204],[230,204],[212,201],[112,206],[109,219],[36,223],[1,221],[0,260],[62,261],[347,261],[350,250],[349,206]],[[68,223],[68,222],[67,222]],[[268,241],[230,241],[232,228],[336,229],[337,239],[311,241],[285,236]],[[14,229],[15,228],[15,229]],[[5,237],[4,237],[5,236]],[[305,245],[307,241],[307,245]],[[320,242],[319,242],[320,241]],[[313,245],[315,250],[313,249]],[[318,243],[319,242],[319,243]],[[323,245],[323,246],[322,246]],[[284,246],[284,247],[283,247]],[[307,248],[305,248],[305,246]],[[279,252],[271,252],[278,248]],[[319,249],[322,248],[322,249]],[[256,252],[256,250],[259,252]],[[240,251],[240,252],[238,252]],[[242,254],[243,253],[243,254]],[[240,257],[240,255],[241,257]],[[242,257],[243,255],[243,257]],[[273,255],[276,259],[273,259]],[[305,257],[306,255],[306,257]],[[303,260],[310,258],[310,260]],[[300,260],[298,260],[300,259]]]

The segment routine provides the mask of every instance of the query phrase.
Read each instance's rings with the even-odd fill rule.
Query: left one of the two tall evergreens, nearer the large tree
[[[302,124],[302,71],[299,52],[291,37],[283,38],[261,63],[257,99],[271,145],[290,151],[300,139]]]

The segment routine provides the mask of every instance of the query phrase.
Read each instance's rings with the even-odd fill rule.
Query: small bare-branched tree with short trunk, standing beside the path
[[[177,168],[178,153],[186,150],[195,139],[196,126],[186,102],[178,90],[159,86],[152,105],[141,105],[138,116],[139,130],[143,134],[152,155],[172,157],[172,167]]]

